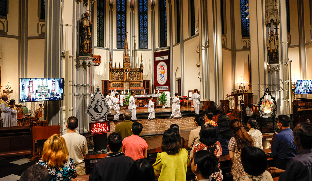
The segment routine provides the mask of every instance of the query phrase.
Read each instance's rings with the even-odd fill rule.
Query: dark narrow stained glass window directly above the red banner
[[[160,47],[167,46],[167,4],[166,0],[159,0]]]

